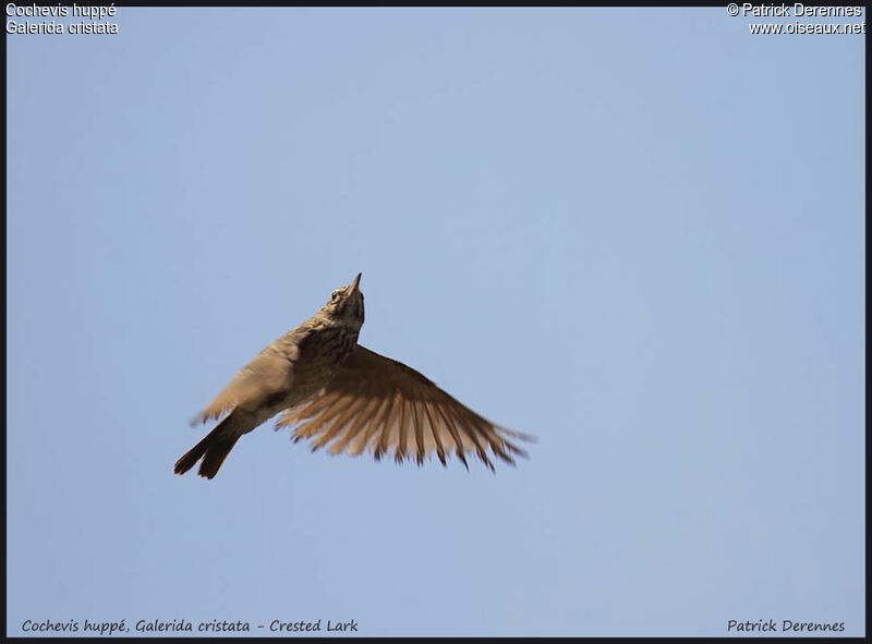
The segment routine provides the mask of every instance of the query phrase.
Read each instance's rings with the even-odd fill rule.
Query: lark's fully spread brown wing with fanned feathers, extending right
[[[513,464],[526,452],[509,438],[533,440],[483,418],[404,364],[358,344],[332,381],[287,410],[276,428],[296,425],[294,441],[315,438],[313,451],[330,443],[330,453],[358,455],[368,449],[376,460],[392,451],[397,462],[436,452],[443,464],[467,454],[492,470],[493,455]]]

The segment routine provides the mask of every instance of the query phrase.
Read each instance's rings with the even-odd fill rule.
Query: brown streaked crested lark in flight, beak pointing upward
[[[261,351],[194,416],[192,425],[221,420],[175,462],[175,474],[202,461],[199,476],[214,478],[237,441],[277,414],[276,429],[292,427],[293,441],[312,439],[312,451],[368,450],[377,461],[392,452],[397,463],[417,465],[434,451],[447,465],[453,452],[467,470],[474,454],[491,471],[495,458],[511,465],[514,455],[529,458],[514,441],[534,436],[492,423],[412,367],[358,343],[361,276]]]

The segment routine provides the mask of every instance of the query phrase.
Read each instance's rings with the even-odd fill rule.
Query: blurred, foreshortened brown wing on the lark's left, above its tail
[[[288,391],[292,378],[293,362],[274,342],[242,367],[209,406],[192,418],[191,424],[218,418],[230,409],[257,410],[271,397]]]

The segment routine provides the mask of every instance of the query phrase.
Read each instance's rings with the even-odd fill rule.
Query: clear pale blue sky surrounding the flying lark
[[[865,36],[724,8],[114,22],[7,36],[9,634],[863,634]],[[361,342],[531,459],[270,424],[173,475],[191,416],[358,271]]]

